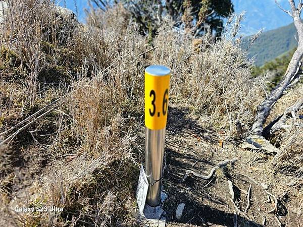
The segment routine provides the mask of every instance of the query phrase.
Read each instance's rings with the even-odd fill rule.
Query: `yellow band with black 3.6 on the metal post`
[[[153,76],[145,71],[145,126],[164,129],[167,122],[170,74]]]

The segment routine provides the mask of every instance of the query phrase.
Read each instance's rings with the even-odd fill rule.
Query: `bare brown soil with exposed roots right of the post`
[[[263,226],[264,220],[264,226],[301,226],[302,198],[297,189],[285,185],[285,176],[273,171],[271,155],[243,150],[238,144],[225,141],[224,130],[204,129],[188,112],[174,106],[169,109],[163,179],[168,194],[164,204],[167,226],[235,226],[235,220],[238,226]],[[239,160],[232,167],[219,169],[210,181],[190,176],[182,182],[187,169],[208,175],[218,162],[234,157]],[[236,212],[228,180],[233,184],[235,204],[243,213],[247,204],[245,192],[251,185],[247,213]],[[271,199],[272,202],[265,203],[268,197],[261,183],[268,186],[268,192],[278,193],[276,212],[268,213],[274,202]],[[185,208],[178,220],[175,212],[180,203],[185,203]]]

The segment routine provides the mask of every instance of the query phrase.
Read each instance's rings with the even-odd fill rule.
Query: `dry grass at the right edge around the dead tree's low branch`
[[[287,107],[293,105],[302,96],[301,84],[289,89],[277,101],[267,123],[282,115]],[[289,184],[298,188],[302,187],[303,184],[303,126],[299,115],[302,115],[302,111],[296,113],[296,119],[289,118],[285,123],[288,128],[277,131],[272,138],[272,142],[280,149],[280,153],[272,160],[273,166],[277,171],[290,176]]]

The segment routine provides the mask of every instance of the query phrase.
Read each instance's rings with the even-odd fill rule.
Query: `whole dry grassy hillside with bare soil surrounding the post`
[[[238,42],[227,35],[197,40],[170,20],[150,40],[120,4],[92,9],[84,25],[51,0],[7,3],[0,23],[0,226],[146,226],[135,196],[144,165],[144,70],[160,64],[172,70],[162,176],[167,226],[302,222],[303,122],[287,120],[272,138],[276,155],[240,146],[266,84],[251,77]],[[298,84],[268,121],[300,97]],[[264,203],[267,192],[272,203]]]

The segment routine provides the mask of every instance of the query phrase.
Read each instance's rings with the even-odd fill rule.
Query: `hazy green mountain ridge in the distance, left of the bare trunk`
[[[255,57],[256,66],[262,66],[297,46],[297,32],[291,23],[277,29],[262,33],[248,49],[248,57]],[[242,48],[247,49],[250,37],[244,37]]]

